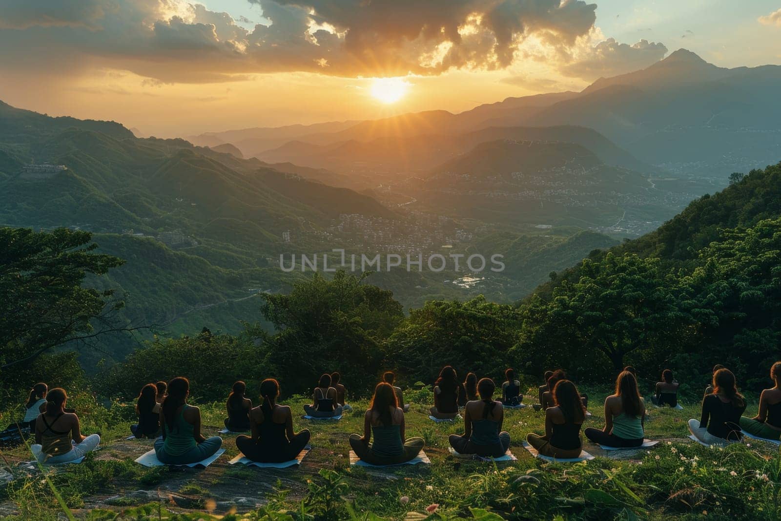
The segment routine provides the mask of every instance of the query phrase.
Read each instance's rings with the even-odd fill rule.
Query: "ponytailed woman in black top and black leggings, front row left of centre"
[[[281,463],[296,459],[309,443],[309,430],[293,430],[293,413],[287,405],[277,405],[280,384],[267,378],[260,384],[261,405],[251,409],[251,436],[236,438],[237,448],[253,462]]]

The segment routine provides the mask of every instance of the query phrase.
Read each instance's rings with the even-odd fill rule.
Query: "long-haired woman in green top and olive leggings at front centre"
[[[363,436],[350,434],[349,441],[355,455],[371,465],[406,463],[417,458],[426,444],[422,437],[405,439],[404,411],[393,386],[386,382],[374,389],[372,406],[363,416]]]

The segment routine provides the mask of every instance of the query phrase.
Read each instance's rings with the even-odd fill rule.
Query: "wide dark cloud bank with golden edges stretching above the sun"
[[[504,70],[536,41],[555,50],[554,66],[583,77],[644,66],[666,51],[608,40],[579,52],[596,9],[583,0],[250,1],[270,23],[245,28],[186,0],[0,0],[0,47],[13,48],[0,54],[0,72],[106,68],[164,83],[293,71],[437,75]]]

